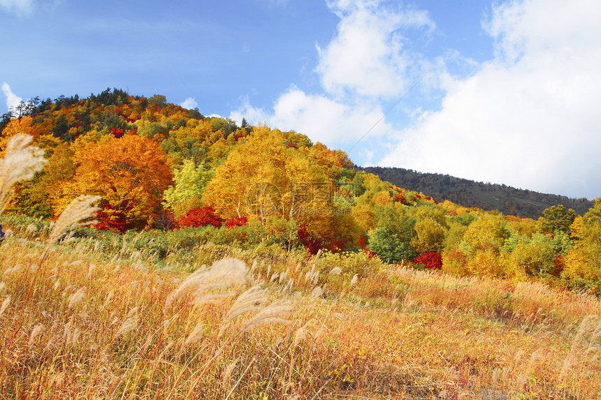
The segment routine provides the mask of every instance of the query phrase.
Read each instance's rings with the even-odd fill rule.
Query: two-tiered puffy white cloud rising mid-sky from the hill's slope
[[[349,149],[365,133],[378,138],[393,129],[382,121],[378,99],[389,99],[406,90],[410,55],[403,52],[403,29],[431,31],[435,25],[424,11],[384,6],[379,0],[328,1],[340,17],[333,40],[317,46],[315,73],[321,93],[307,93],[292,84],[273,108],[254,108],[244,98],[230,118],[267,122],[282,130],[308,135],[312,140]],[[375,101],[376,100],[376,101]],[[365,151],[365,156],[373,156]]]

